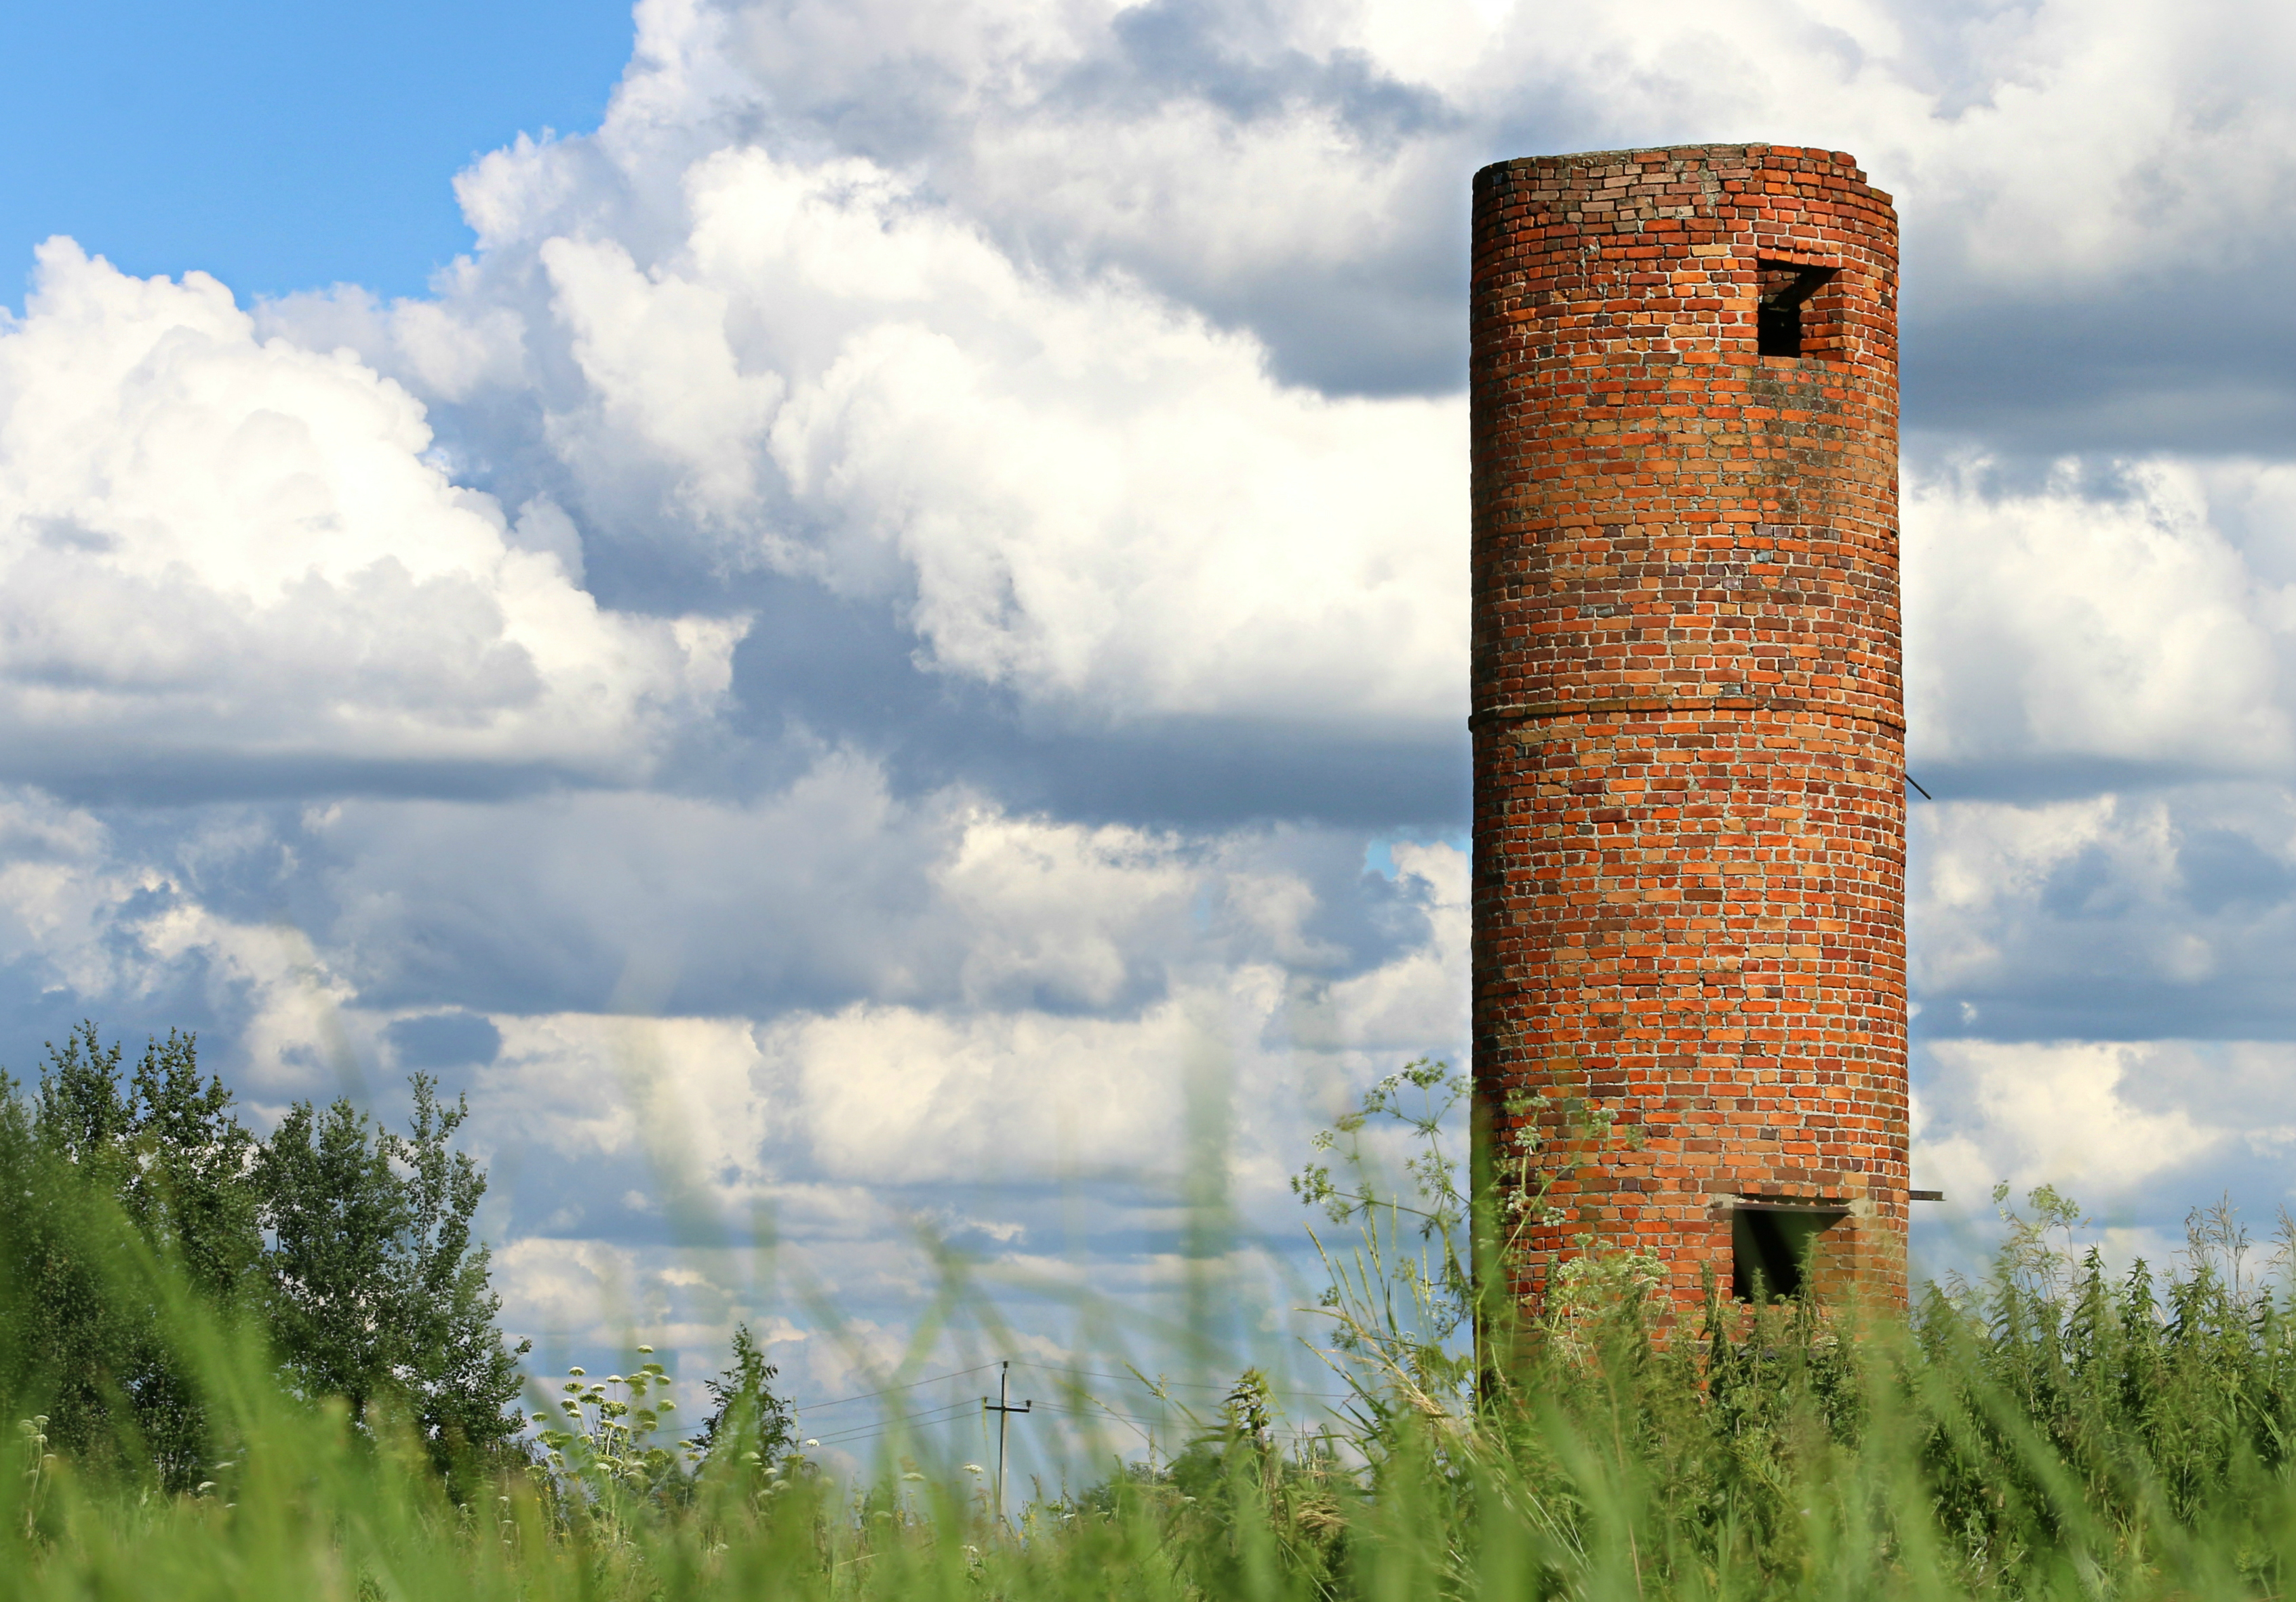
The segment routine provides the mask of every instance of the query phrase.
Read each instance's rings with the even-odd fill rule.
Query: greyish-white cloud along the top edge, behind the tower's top
[[[1940,406],[1917,420],[1952,425],[2007,392],[2041,427],[2099,379],[2117,395],[2174,379],[2161,365],[2220,388],[2204,363],[2179,367],[2174,347],[2195,337],[2236,351],[2262,319],[2285,356],[2268,264],[2296,172],[2291,55],[2271,7],[2195,18],[2163,0],[1743,0],[1568,28],[1541,5],[1405,0],[664,0],[638,9],[638,55],[597,145],[535,184],[482,165],[464,202],[489,243],[574,195],[585,225],[659,239],[675,230],[645,193],[661,193],[661,168],[728,138],[833,149],[923,174],[1026,259],[1118,269],[1254,330],[1295,381],[1451,390],[1472,168],[1809,142],[1857,151],[1906,209],[1908,314],[1929,333],[1915,349],[1933,353],[1915,392]],[[654,179],[608,202],[604,163]],[[2101,298],[2122,324],[2094,340],[2105,330],[2078,308]],[[1981,365],[1981,349],[2032,333],[2030,360]],[[2131,363],[2131,344],[2154,360]]]

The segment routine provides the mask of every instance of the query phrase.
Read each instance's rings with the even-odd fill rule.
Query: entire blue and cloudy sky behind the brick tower
[[[2285,7],[0,39],[0,1063],[439,1074],[537,1363],[1281,1347],[1309,1134],[1465,1060],[1467,200],[1548,151],[1896,195],[1917,1251],[2296,1189]]]

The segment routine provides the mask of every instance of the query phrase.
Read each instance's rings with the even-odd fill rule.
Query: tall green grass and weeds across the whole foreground
[[[1352,1402],[1286,1446],[1238,1379],[1185,1451],[994,1519],[976,1476],[891,1448],[861,1483],[767,1462],[739,1414],[698,1469],[572,1398],[558,1460],[443,1480],[388,1414],[289,1400],[243,1329],[122,1235],[216,1453],[168,1494],[135,1455],[0,1476],[9,1597],[2278,1597],[2296,1556],[2296,1308],[2227,1212],[2112,1272],[2037,1191],[1991,1274],[1910,1317],[1665,1317],[1632,1260],[1536,1311],[1476,1301],[1442,1152],[1458,1086],[1382,1086],[1309,1173]],[[1417,1141],[1387,1187],[1357,1145]],[[1488,1223],[1488,1219],[1486,1219]],[[14,1292],[11,1292],[14,1294]],[[1481,1343],[1465,1338],[1481,1322]],[[1079,1354],[1088,1359],[1088,1354]],[[1088,1368],[1091,1361],[1079,1361]],[[645,1402],[645,1398],[638,1398]],[[611,1425],[611,1428],[608,1428]],[[622,1430],[615,1434],[615,1428]],[[583,1434],[588,1430],[588,1434]],[[581,1439],[576,1439],[581,1437]],[[588,1441],[588,1444],[583,1444]],[[916,1455],[923,1460],[923,1455]]]

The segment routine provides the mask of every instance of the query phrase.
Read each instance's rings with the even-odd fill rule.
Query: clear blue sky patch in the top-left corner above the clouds
[[[241,298],[420,294],[471,248],[455,172],[519,133],[595,129],[629,41],[629,7],[597,0],[11,5],[9,298],[51,234]]]

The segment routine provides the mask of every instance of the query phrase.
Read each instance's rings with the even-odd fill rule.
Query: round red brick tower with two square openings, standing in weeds
[[[1596,1242],[1678,1304],[1901,1301],[1890,197],[1784,145],[1502,161],[1472,305],[1476,1102],[1566,1214],[1513,1290]]]

